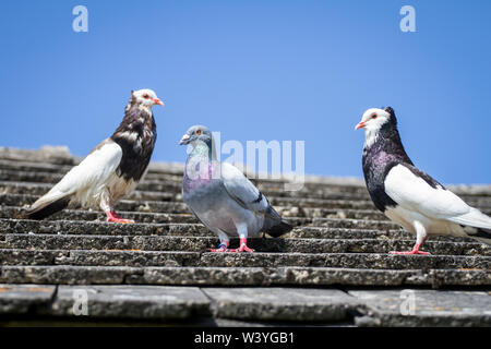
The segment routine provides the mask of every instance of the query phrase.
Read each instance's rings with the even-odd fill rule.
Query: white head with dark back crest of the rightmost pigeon
[[[363,129],[366,136],[366,147],[372,145],[379,137],[379,132],[383,127],[396,129],[397,120],[394,109],[385,107],[383,109],[370,108],[361,117],[361,121],[355,127],[355,130]]]

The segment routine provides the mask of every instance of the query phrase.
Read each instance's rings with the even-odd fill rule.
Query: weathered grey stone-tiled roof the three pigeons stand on
[[[253,254],[218,254],[182,202],[179,164],[151,164],[118,204],[134,225],[77,208],[19,218],[76,161],[63,147],[0,148],[2,324],[491,325],[491,248],[436,237],[430,256],[388,254],[415,239],[358,179],[309,177],[299,191],[254,181],[296,228],[249,239]],[[491,185],[451,189],[491,214]]]

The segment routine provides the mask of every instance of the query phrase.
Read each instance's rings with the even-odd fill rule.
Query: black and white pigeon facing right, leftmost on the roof
[[[99,207],[108,221],[133,222],[119,217],[113,206],[146,172],[157,139],[152,113],[155,105],[164,106],[152,89],[132,91],[116,132],[37,200],[27,209],[26,218],[43,219],[69,204],[79,204]]]

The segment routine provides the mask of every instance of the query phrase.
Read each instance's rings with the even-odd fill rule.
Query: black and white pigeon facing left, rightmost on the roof
[[[393,108],[368,109],[358,129],[366,135],[362,164],[370,197],[391,220],[416,234],[411,251],[392,253],[429,254],[420,251],[429,236],[471,237],[491,244],[491,218],[415,167]]]

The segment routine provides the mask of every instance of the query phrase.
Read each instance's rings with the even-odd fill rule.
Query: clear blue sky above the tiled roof
[[[88,32],[72,9],[88,9]],[[403,33],[399,9],[416,10]],[[491,183],[491,1],[2,1],[0,146],[86,155],[153,88],[154,160],[195,123],[221,141],[306,142],[306,172],[361,177],[370,107],[392,106],[414,163]]]

